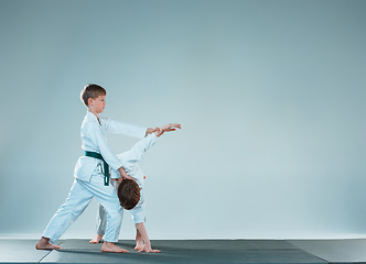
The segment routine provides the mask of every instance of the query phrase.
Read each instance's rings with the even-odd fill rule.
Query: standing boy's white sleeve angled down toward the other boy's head
[[[97,124],[93,123],[90,125],[93,127],[88,131],[88,134],[92,141],[96,144],[96,148],[99,148],[99,153],[103,156],[103,158],[106,161],[106,163],[111,168],[117,170],[122,166],[121,161],[119,161],[117,156],[112,153]]]

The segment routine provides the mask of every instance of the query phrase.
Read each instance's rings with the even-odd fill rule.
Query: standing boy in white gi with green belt
[[[52,243],[66,232],[72,222],[83,213],[95,197],[108,212],[101,251],[128,252],[115,245],[121,226],[121,207],[115,187],[109,184],[109,166],[119,173],[118,177],[133,178],[127,175],[121,162],[109,148],[106,133],[122,133],[142,139],[154,132],[155,129],[138,128],[107,118],[99,118],[99,113],[106,107],[106,90],[98,85],[87,85],[80,97],[88,110],[82,123],[82,148],[85,151],[85,156],[80,156],[76,163],[75,180],[68,197],[49,222],[35,248],[37,250],[61,249]]]

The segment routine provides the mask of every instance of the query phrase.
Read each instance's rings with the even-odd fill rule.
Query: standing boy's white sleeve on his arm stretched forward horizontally
[[[147,128],[114,121],[109,118],[104,118],[104,121],[106,131],[108,133],[125,134],[138,139],[143,139],[147,132]]]

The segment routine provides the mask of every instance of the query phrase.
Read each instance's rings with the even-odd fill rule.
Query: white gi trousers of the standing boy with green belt
[[[43,232],[52,243],[58,240],[68,227],[83,213],[93,197],[105,208],[107,212],[106,242],[117,242],[122,221],[122,208],[119,204],[114,185],[104,185],[104,175],[95,169],[89,182],[75,178],[65,202],[53,216]]]

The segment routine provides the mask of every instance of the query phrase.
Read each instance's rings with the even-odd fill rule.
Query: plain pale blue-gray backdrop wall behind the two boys
[[[39,238],[105,116],[146,154],[151,239],[366,234],[366,1],[0,0],[0,234]],[[110,135],[116,153],[136,139]],[[93,201],[64,238],[95,233]],[[125,215],[121,239],[132,239]]]

